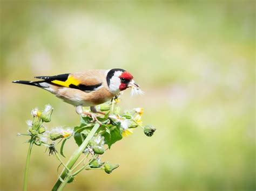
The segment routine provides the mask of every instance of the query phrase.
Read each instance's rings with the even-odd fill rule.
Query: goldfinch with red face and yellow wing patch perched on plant
[[[39,81],[15,80],[13,83],[36,86],[49,91],[64,102],[76,107],[77,114],[91,116],[97,121],[96,105],[110,101],[120,91],[127,88],[140,89],[130,72],[120,68],[89,69],[79,73],[66,73],[53,76],[35,76]],[[92,112],[83,111],[90,107]]]

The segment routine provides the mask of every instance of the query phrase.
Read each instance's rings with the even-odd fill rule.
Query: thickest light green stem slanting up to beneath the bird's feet
[[[82,154],[82,152],[85,150],[86,146],[88,145],[89,140],[93,137],[93,135],[95,135],[96,131],[99,129],[99,124],[96,123],[95,126],[93,126],[91,132],[89,133],[89,135],[85,138],[84,142],[79,146],[79,148],[71,155],[71,157],[69,158],[69,161],[66,163],[66,167],[68,169],[71,169],[73,167],[73,165],[76,163],[77,159],[80,157],[80,155]],[[64,180],[64,182],[66,181],[65,177],[67,176],[67,170],[66,168],[63,169],[62,173],[60,174],[60,178],[62,178]],[[66,183],[68,182],[68,180],[66,181]],[[59,186],[62,184],[62,181],[60,179],[57,180],[57,182],[55,183],[55,185],[52,188],[52,191],[56,191],[58,190]],[[65,186],[65,185],[64,185]]]

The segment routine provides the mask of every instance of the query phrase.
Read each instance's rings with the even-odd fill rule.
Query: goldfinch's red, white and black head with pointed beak
[[[119,91],[130,87],[139,88],[139,85],[133,80],[132,74],[124,69],[114,68],[109,70],[106,80],[112,94],[118,94]]]

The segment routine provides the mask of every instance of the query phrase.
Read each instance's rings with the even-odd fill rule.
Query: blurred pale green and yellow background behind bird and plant
[[[66,190],[255,190],[254,1],[1,1],[1,190],[21,190],[32,108],[76,126],[72,105],[12,84],[36,75],[124,68],[145,91],[144,124],[113,145],[111,175],[86,171]],[[66,155],[77,148],[73,139]],[[23,144],[24,143],[24,144]],[[32,151],[29,190],[50,190],[58,162]]]

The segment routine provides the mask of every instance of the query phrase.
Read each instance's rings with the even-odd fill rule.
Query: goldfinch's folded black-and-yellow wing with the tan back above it
[[[59,74],[55,76],[36,76],[35,78],[42,79],[45,82],[56,86],[69,87],[82,91],[94,91],[102,82],[96,76],[86,73]]]

